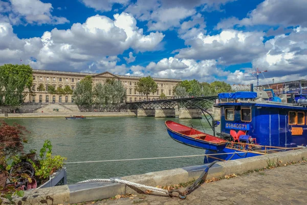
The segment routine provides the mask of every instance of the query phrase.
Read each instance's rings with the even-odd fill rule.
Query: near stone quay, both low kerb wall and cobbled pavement
[[[300,149],[218,162],[210,168],[207,179],[212,177],[225,177],[225,175],[230,174],[244,174],[251,170],[259,170],[273,165],[283,165],[287,162],[297,162],[306,158],[307,149]],[[253,175],[241,179],[231,179],[236,180],[232,181],[234,183],[228,180],[214,182],[211,185],[206,183],[201,188],[188,195],[186,200],[150,195],[148,196],[148,199],[146,198],[144,201],[128,201],[131,199],[124,199],[123,201],[117,201],[117,203],[204,204],[210,202],[210,204],[269,204],[273,200],[274,203],[278,204],[280,204],[280,202],[284,202],[285,204],[299,203],[301,200],[307,199],[305,194],[300,194],[302,192],[306,193],[307,191],[306,188],[304,188],[306,183],[306,166],[303,166],[304,167],[300,167],[297,170],[289,168],[289,172],[281,171],[280,173],[278,170],[282,168],[278,168],[276,171],[274,170],[275,173],[271,174],[269,177],[265,177],[265,175],[261,177]],[[126,176],[121,177],[121,179],[153,187],[171,186],[178,185],[179,183],[186,183],[192,179],[198,178],[205,168],[206,165],[193,166],[182,169]],[[214,184],[216,183],[220,183],[220,185],[214,187]],[[283,188],[283,186],[286,186],[287,189]],[[23,198],[15,198],[15,202],[20,205],[41,204],[42,202],[45,204],[68,204],[111,198],[126,193],[136,192],[135,190],[118,183],[91,182],[27,191]],[[285,198],[286,201],[282,201],[284,199],[283,194],[288,197]],[[259,202],[257,200],[259,200]],[[106,201],[101,202],[100,204],[112,204],[112,202]]]

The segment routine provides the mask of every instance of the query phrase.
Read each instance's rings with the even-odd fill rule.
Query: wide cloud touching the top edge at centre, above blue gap
[[[148,30],[165,31],[181,26],[181,20],[196,13],[196,7],[219,7],[233,0],[138,0],[130,4],[126,11],[137,19],[148,21]]]

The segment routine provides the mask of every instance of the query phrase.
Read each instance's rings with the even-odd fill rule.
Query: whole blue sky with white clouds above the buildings
[[[307,79],[306,0],[0,0],[0,65],[260,84]]]

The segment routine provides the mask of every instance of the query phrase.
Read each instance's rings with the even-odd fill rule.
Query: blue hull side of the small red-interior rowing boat
[[[183,134],[173,132],[169,129],[167,129],[167,132],[173,140],[194,148],[218,151],[218,150],[223,150],[227,145],[227,144],[222,144],[222,145],[210,144],[210,142],[188,137]]]

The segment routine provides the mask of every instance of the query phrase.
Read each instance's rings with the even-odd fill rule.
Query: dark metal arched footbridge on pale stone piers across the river
[[[202,118],[202,110],[213,110],[217,96],[172,98],[151,101],[127,102],[126,109],[136,110],[137,116]],[[212,111],[211,111],[212,113]]]

